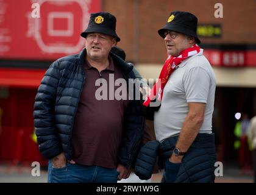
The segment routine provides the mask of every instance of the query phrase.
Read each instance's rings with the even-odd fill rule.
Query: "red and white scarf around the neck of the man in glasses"
[[[180,55],[178,57],[172,57],[170,55],[168,59],[165,61],[165,64],[163,65],[157,83],[155,83],[155,85],[153,86],[151,92],[148,94],[147,99],[143,102],[143,105],[148,107],[151,100],[155,99],[156,94],[158,94],[158,101],[161,101],[163,97],[163,88],[165,88],[169,76],[176,69],[176,66],[178,66],[183,60],[187,59],[188,57],[191,57],[192,55],[196,55],[199,52],[200,47],[197,44],[194,44],[191,48],[184,49],[182,52],[180,52]]]

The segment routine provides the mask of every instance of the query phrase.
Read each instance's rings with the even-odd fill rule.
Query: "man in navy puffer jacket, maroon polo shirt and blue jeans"
[[[110,52],[120,41],[115,27],[115,16],[92,13],[81,34],[85,49],[56,60],[41,81],[34,123],[39,150],[49,159],[48,182],[129,177],[144,119],[133,97],[139,85],[130,85],[133,66]]]

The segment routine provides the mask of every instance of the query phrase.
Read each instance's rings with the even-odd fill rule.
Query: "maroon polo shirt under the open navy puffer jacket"
[[[110,74],[114,80],[123,78],[121,70],[114,65],[112,58],[108,68],[99,73],[98,69],[91,66],[85,60],[85,83],[77,108],[74,127],[72,132],[72,143],[74,147],[74,158],[81,165],[96,165],[105,168],[116,168],[118,148],[121,144],[124,125],[124,112],[129,100],[110,100],[109,86]],[[97,79],[105,79],[105,85],[96,86]],[[107,100],[96,99],[96,90],[107,90]],[[121,88],[119,86],[114,89]],[[122,85],[126,90],[126,86]],[[102,91],[101,90],[101,91]],[[113,91],[113,90],[112,90]],[[127,91],[127,90],[126,90]],[[103,94],[103,93],[101,93]],[[113,96],[113,94],[112,94]]]

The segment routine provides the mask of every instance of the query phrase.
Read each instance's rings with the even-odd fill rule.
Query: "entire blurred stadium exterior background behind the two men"
[[[127,62],[155,79],[166,59],[157,30],[173,10],[197,16],[200,46],[216,74],[213,131],[223,165],[216,182],[252,182],[246,133],[256,115],[255,0],[0,0],[0,182],[46,182],[48,160],[33,136],[35,95],[52,62],[84,48],[80,32],[90,13],[116,16]],[[33,161],[39,179],[31,176]]]

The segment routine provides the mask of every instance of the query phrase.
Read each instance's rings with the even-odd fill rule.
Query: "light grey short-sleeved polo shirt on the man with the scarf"
[[[188,114],[188,102],[205,103],[204,122],[199,133],[212,133],[212,115],[216,79],[212,66],[199,54],[176,67],[163,89],[161,107],[154,115],[155,136],[158,141],[178,135]]]

